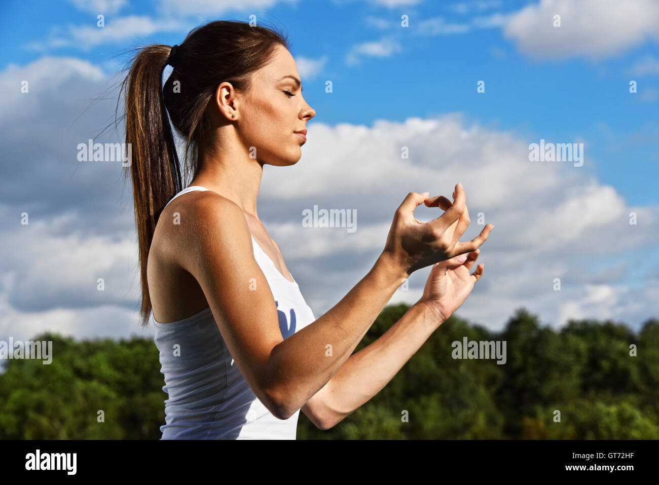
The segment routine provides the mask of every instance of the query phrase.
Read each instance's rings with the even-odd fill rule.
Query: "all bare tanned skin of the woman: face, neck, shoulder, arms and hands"
[[[243,221],[239,215],[228,217],[227,213],[238,206],[240,211],[235,210],[244,215],[252,237],[281,274],[291,280],[279,248],[258,218],[256,202],[264,165],[283,167],[297,163],[304,140],[295,132],[304,130],[316,114],[304,101],[296,79],[300,76],[293,56],[278,46],[271,63],[254,74],[249,92],[239,92],[229,82],[217,86],[210,105],[212,136],[206,146],[200,147],[199,171],[190,185],[204,186],[221,198],[196,192],[196,211],[186,216],[186,204],[193,204],[186,195],[173,200],[161,217],[171,220],[175,211],[190,217],[192,222],[197,214],[205,217],[203,221],[226,216],[221,224],[237,228],[237,236],[224,236],[223,245],[219,246],[215,239],[208,241],[208,231],[196,229],[186,239],[188,235],[178,231],[177,226],[159,223],[149,257],[149,288],[154,316],[159,322],[175,322],[209,305],[214,307],[231,355],[250,385],[261,383],[252,389],[270,405],[270,411],[285,419],[300,409],[316,426],[328,429],[376,395],[467,298],[483,274],[482,265],[473,275],[469,270],[478,257],[478,246],[487,239],[492,227],[487,225],[472,241],[459,242],[469,225],[463,188],[456,186],[453,202],[442,196],[428,198],[427,194],[410,192],[395,213],[385,249],[372,270],[316,322],[281,339],[277,325],[267,323],[268,319],[276,321],[276,310],[270,304],[272,295],[249,293],[246,285],[239,283],[251,277],[261,279],[262,275],[256,272],[258,267],[248,237],[244,231],[238,236],[241,224],[244,228]],[[254,153],[252,147],[256,148],[256,159],[250,157]],[[221,202],[226,199],[235,205]],[[423,202],[444,213],[437,214],[434,221],[420,223],[413,210]],[[204,212],[204,207],[217,206],[222,210]],[[203,221],[188,227],[204,225]],[[215,229],[217,232],[221,233]],[[236,237],[240,237],[239,244],[235,243]],[[200,240],[205,243],[200,244]],[[206,248],[201,256],[195,249],[199,246]],[[231,248],[229,255],[222,249],[227,247]],[[205,254],[210,254],[208,259],[196,264]],[[457,262],[459,254],[467,254],[464,264]],[[190,259],[192,256],[197,259]],[[384,335],[353,354],[403,283],[401,277],[432,266],[437,260],[442,262],[432,269],[418,302]],[[239,274],[225,274],[223,264],[232,265]],[[230,296],[220,297],[218,288],[222,295]],[[245,301],[250,304],[245,306]],[[235,316],[231,326],[219,317],[219,308],[222,313]],[[258,312],[258,316],[252,312]],[[248,324],[238,318],[241,314],[250,318]],[[321,353],[300,351],[318,346],[319,342],[323,343]],[[328,342],[332,343],[332,358],[325,354],[324,345]],[[283,380],[268,369],[286,369],[287,376],[295,378]]]

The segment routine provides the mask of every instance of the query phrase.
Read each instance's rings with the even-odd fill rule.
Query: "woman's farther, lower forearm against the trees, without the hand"
[[[427,307],[415,304],[382,337],[351,355],[326,389],[328,427],[380,392],[441,324]]]

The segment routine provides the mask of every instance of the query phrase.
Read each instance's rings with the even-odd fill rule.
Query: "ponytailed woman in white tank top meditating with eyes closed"
[[[297,163],[316,114],[299,78],[283,34],[217,21],[181,45],[141,49],[123,81],[142,325],[156,327],[168,393],[163,439],[295,439],[300,410],[330,428],[393,378],[483,274],[469,271],[491,227],[458,242],[469,225],[462,186],[453,202],[410,192],[373,268],[314,317],[256,211],[263,166]],[[194,168],[184,190],[167,115]],[[445,213],[420,223],[422,202]],[[399,285],[432,264],[423,297],[351,356]]]

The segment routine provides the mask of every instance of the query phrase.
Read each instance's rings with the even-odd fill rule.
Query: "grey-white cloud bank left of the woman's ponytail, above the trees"
[[[16,90],[20,80],[29,82],[27,93]],[[119,164],[76,159],[77,144],[113,118],[116,99],[94,103],[107,81],[98,67],[71,57],[42,57],[0,72],[7,93],[0,99],[7,135],[0,141],[7,162],[0,169],[3,335],[140,331],[132,310],[136,241]],[[23,212],[28,225],[20,224]],[[100,277],[104,291],[96,289]]]

